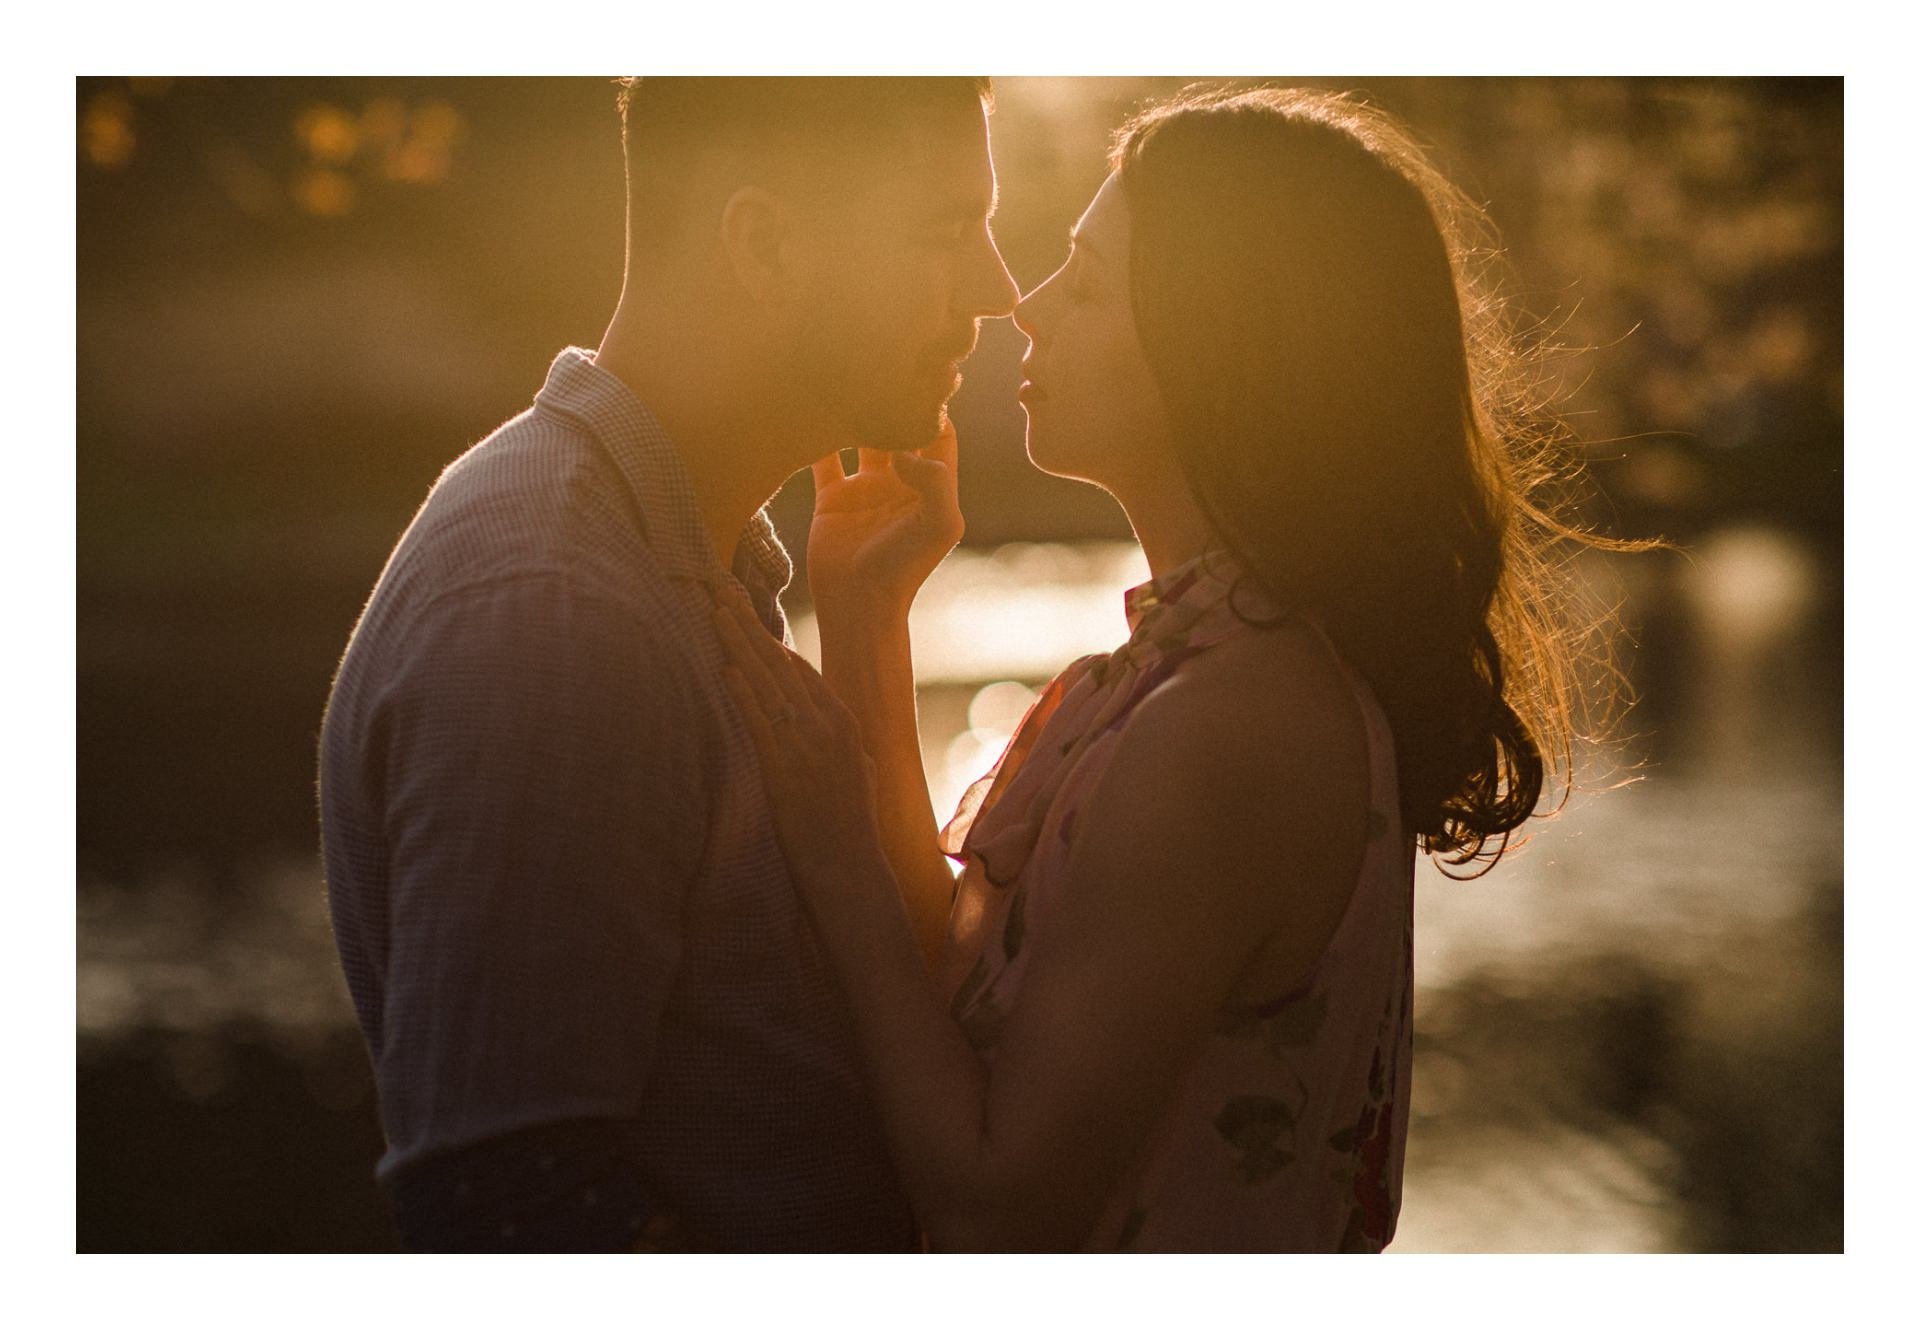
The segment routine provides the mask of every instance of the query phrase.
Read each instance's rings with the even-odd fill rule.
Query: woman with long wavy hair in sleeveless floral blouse
[[[1469,215],[1338,96],[1119,132],[1014,319],[1029,455],[1114,493],[1154,578],[939,839],[906,606],[960,534],[952,434],[816,466],[826,677],[716,608],[933,1247],[1392,1238],[1415,848],[1498,860],[1569,756],[1542,591],[1578,535],[1503,415]]]

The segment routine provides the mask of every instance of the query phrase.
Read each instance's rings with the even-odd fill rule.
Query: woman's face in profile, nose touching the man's
[[[1027,457],[1054,476],[1114,491],[1162,484],[1167,418],[1133,326],[1131,225],[1117,177],[1108,177],[1073,226],[1068,261],[1014,311],[1033,344]]]

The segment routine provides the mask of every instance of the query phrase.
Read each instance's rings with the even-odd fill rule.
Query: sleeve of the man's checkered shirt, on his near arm
[[[564,576],[451,593],[380,699],[388,1165],[637,1111],[707,837],[660,628]]]

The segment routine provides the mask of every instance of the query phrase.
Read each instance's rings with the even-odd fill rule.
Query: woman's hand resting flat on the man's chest
[[[774,831],[808,906],[822,892],[881,877],[891,881],[874,818],[874,764],[860,727],[810,664],[722,591],[714,629],[728,654],[722,674],[760,758]]]

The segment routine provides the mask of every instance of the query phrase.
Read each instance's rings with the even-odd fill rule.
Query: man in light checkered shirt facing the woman
[[[353,629],[326,881],[417,1249],[904,1249],[708,612],[764,505],[935,439],[1016,290],[972,79],[645,79],[597,351],[453,463]]]

